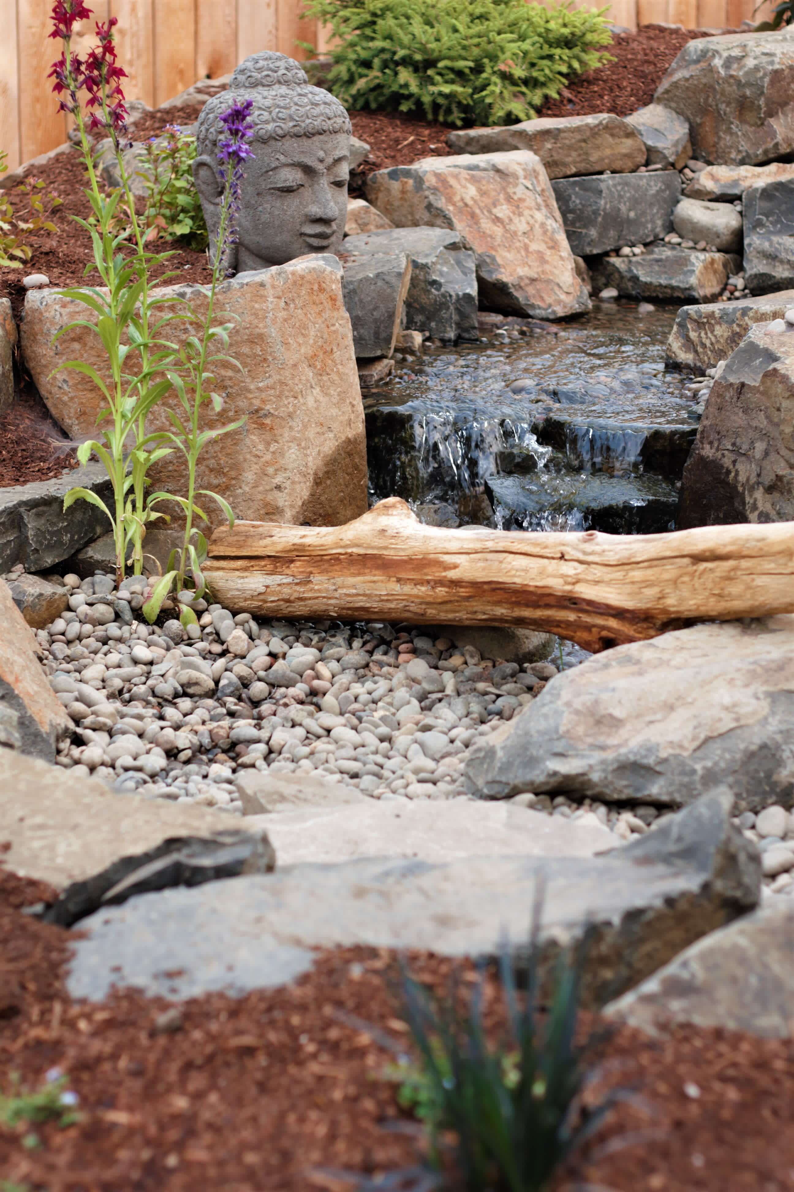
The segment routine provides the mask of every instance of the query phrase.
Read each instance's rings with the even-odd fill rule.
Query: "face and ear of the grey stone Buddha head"
[[[350,136],[283,137],[251,145],[237,215],[237,273],[267,269],[306,253],[338,253],[348,216]],[[207,225],[217,225],[223,184],[214,162],[194,166]],[[212,221],[214,216],[214,221]]]

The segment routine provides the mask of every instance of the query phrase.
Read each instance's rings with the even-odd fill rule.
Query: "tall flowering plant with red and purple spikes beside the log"
[[[54,92],[58,97],[61,110],[74,117],[88,174],[87,194],[93,218],[77,219],[90,235],[94,249],[94,266],[89,266],[86,273],[96,268],[105,290],[82,286],[61,291],[63,297],[73,298],[93,311],[96,322],[76,319],[58,331],[56,339],[82,327],[99,336],[107,355],[110,381],[82,360],[68,360],[62,367],[87,375],[106,402],[96,420],[100,437],[82,442],[77,458],[81,464],[86,464],[93,453],[105,465],[113,486],[113,507],[108,508],[95,492],[76,488],[67,493],[64,510],[77,499],[88,501],[104,510],[113,532],[117,583],[120,583],[130,553],[133,572],[140,575],[143,571],[143,541],[148,524],[160,517],[168,520],[168,515],[157,507],[170,501],[182,508],[186,515],[182,550],[176,552],[173,567],[169,563],[168,577],[161,578],[156,592],[146,604],[146,615],[154,620],[170,589],[183,591],[188,577],[195,591],[200,594],[204,590],[200,563],[202,553],[206,554],[206,540],[195,529],[194,520],[200,517],[206,521],[206,516],[194,504],[196,460],[210,440],[242,426],[242,422],[236,422],[204,432],[199,426],[201,408],[207,401],[212,401],[215,410],[223,404],[218,395],[207,389],[213,380],[210,366],[219,360],[236,364],[229,356],[211,350],[215,340],[220,340],[224,348],[227,347],[231,329],[230,323],[219,327],[213,327],[212,323],[215,317],[215,290],[225,275],[225,257],[215,260],[207,309],[201,315],[183,298],[152,291],[151,271],[164,266],[173,254],[148,250],[146,225],[136,213],[123,156],[129,144],[121,89],[121,80],[126,75],[117,63],[113,43],[115,18],[106,24],[96,24],[99,44],[89,51],[85,62],[71,50],[75,24],[88,17],[90,10],[80,0],[56,0],[50,37],[62,41],[63,52],[54,63],[50,77],[55,79]],[[81,106],[82,94],[86,97],[86,114]],[[236,113],[232,122],[238,117],[239,113]],[[115,155],[121,187],[107,194],[102,192],[96,175],[94,150],[89,141],[92,131],[110,137]],[[230,162],[233,163],[227,168],[221,203],[223,235],[226,241],[231,241],[233,236],[242,161],[250,155],[250,150],[245,150],[246,135],[235,126],[221,161],[221,169],[227,168]],[[124,218],[119,219],[121,211]],[[162,285],[175,275],[165,273],[160,277],[158,284]],[[183,339],[183,342],[176,342],[177,331],[182,331],[179,339]],[[189,333],[187,337],[185,331]],[[167,397],[169,404],[165,412],[171,429],[151,430],[148,426],[149,415]],[[149,470],[176,451],[187,461],[187,497],[164,491],[149,492]],[[229,504],[214,492],[201,492],[217,501],[230,526],[233,524]],[[164,583],[165,578],[168,584]],[[180,617],[183,623],[195,621],[195,614],[188,603],[180,609]]]

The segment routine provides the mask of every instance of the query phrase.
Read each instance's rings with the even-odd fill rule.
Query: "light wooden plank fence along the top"
[[[296,58],[296,43],[325,48],[325,30],[300,17],[305,0],[88,0],[99,20],[118,17],[119,60],[130,75],[125,92],[150,106],[177,95],[196,79],[217,77],[257,50]],[[582,0],[586,2],[586,0]],[[612,0],[618,25],[670,21],[688,29],[738,27],[757,0]],[[48,38],[52,0],[0,0],[0,149],[8,168],[65,139],[65,119],[46,79],[60,45]],[[759,19],[759,18],[758,18]],[[83,21],[76,49],[92,39]]]

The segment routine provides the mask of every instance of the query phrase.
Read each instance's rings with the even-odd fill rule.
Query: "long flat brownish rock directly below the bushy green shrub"
[[[508,128],[464,129],[450,132],[446,143],[458,154],[529,149],[538,155],[549,178],[602,174],[605,169],[624,174],[645,164],[640,136],[609,112],[542,117]]]

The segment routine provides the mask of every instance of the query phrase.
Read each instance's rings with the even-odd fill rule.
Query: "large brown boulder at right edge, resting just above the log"
[[[757,323],[712,386],[683,471],[679,526],[793,520],[794,329]]]

